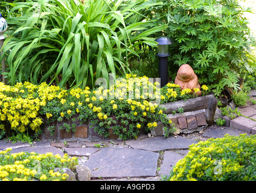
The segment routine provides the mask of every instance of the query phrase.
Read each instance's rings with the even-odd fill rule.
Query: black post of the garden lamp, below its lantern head
[[[170,54],[168,54],[170,55]],[[168,83],[168,55],[159,55],[159,78],[161,78],[161,87]]]

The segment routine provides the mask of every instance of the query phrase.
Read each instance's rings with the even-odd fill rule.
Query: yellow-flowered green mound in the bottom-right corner
[[[193,144],[165,180],[256,180],[256,136],[225,135]]]

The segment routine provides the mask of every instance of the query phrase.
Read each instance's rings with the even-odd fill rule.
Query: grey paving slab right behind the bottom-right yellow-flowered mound
[[[223,127],[223,129],[221,128],[208,129],[205,131],[205,133],[202,134],[202,136],[206,138],[223,138],[225,134],[238,136],[239,134],[243,134],[243,133],[245,132],[234,129],[234,128]]]

